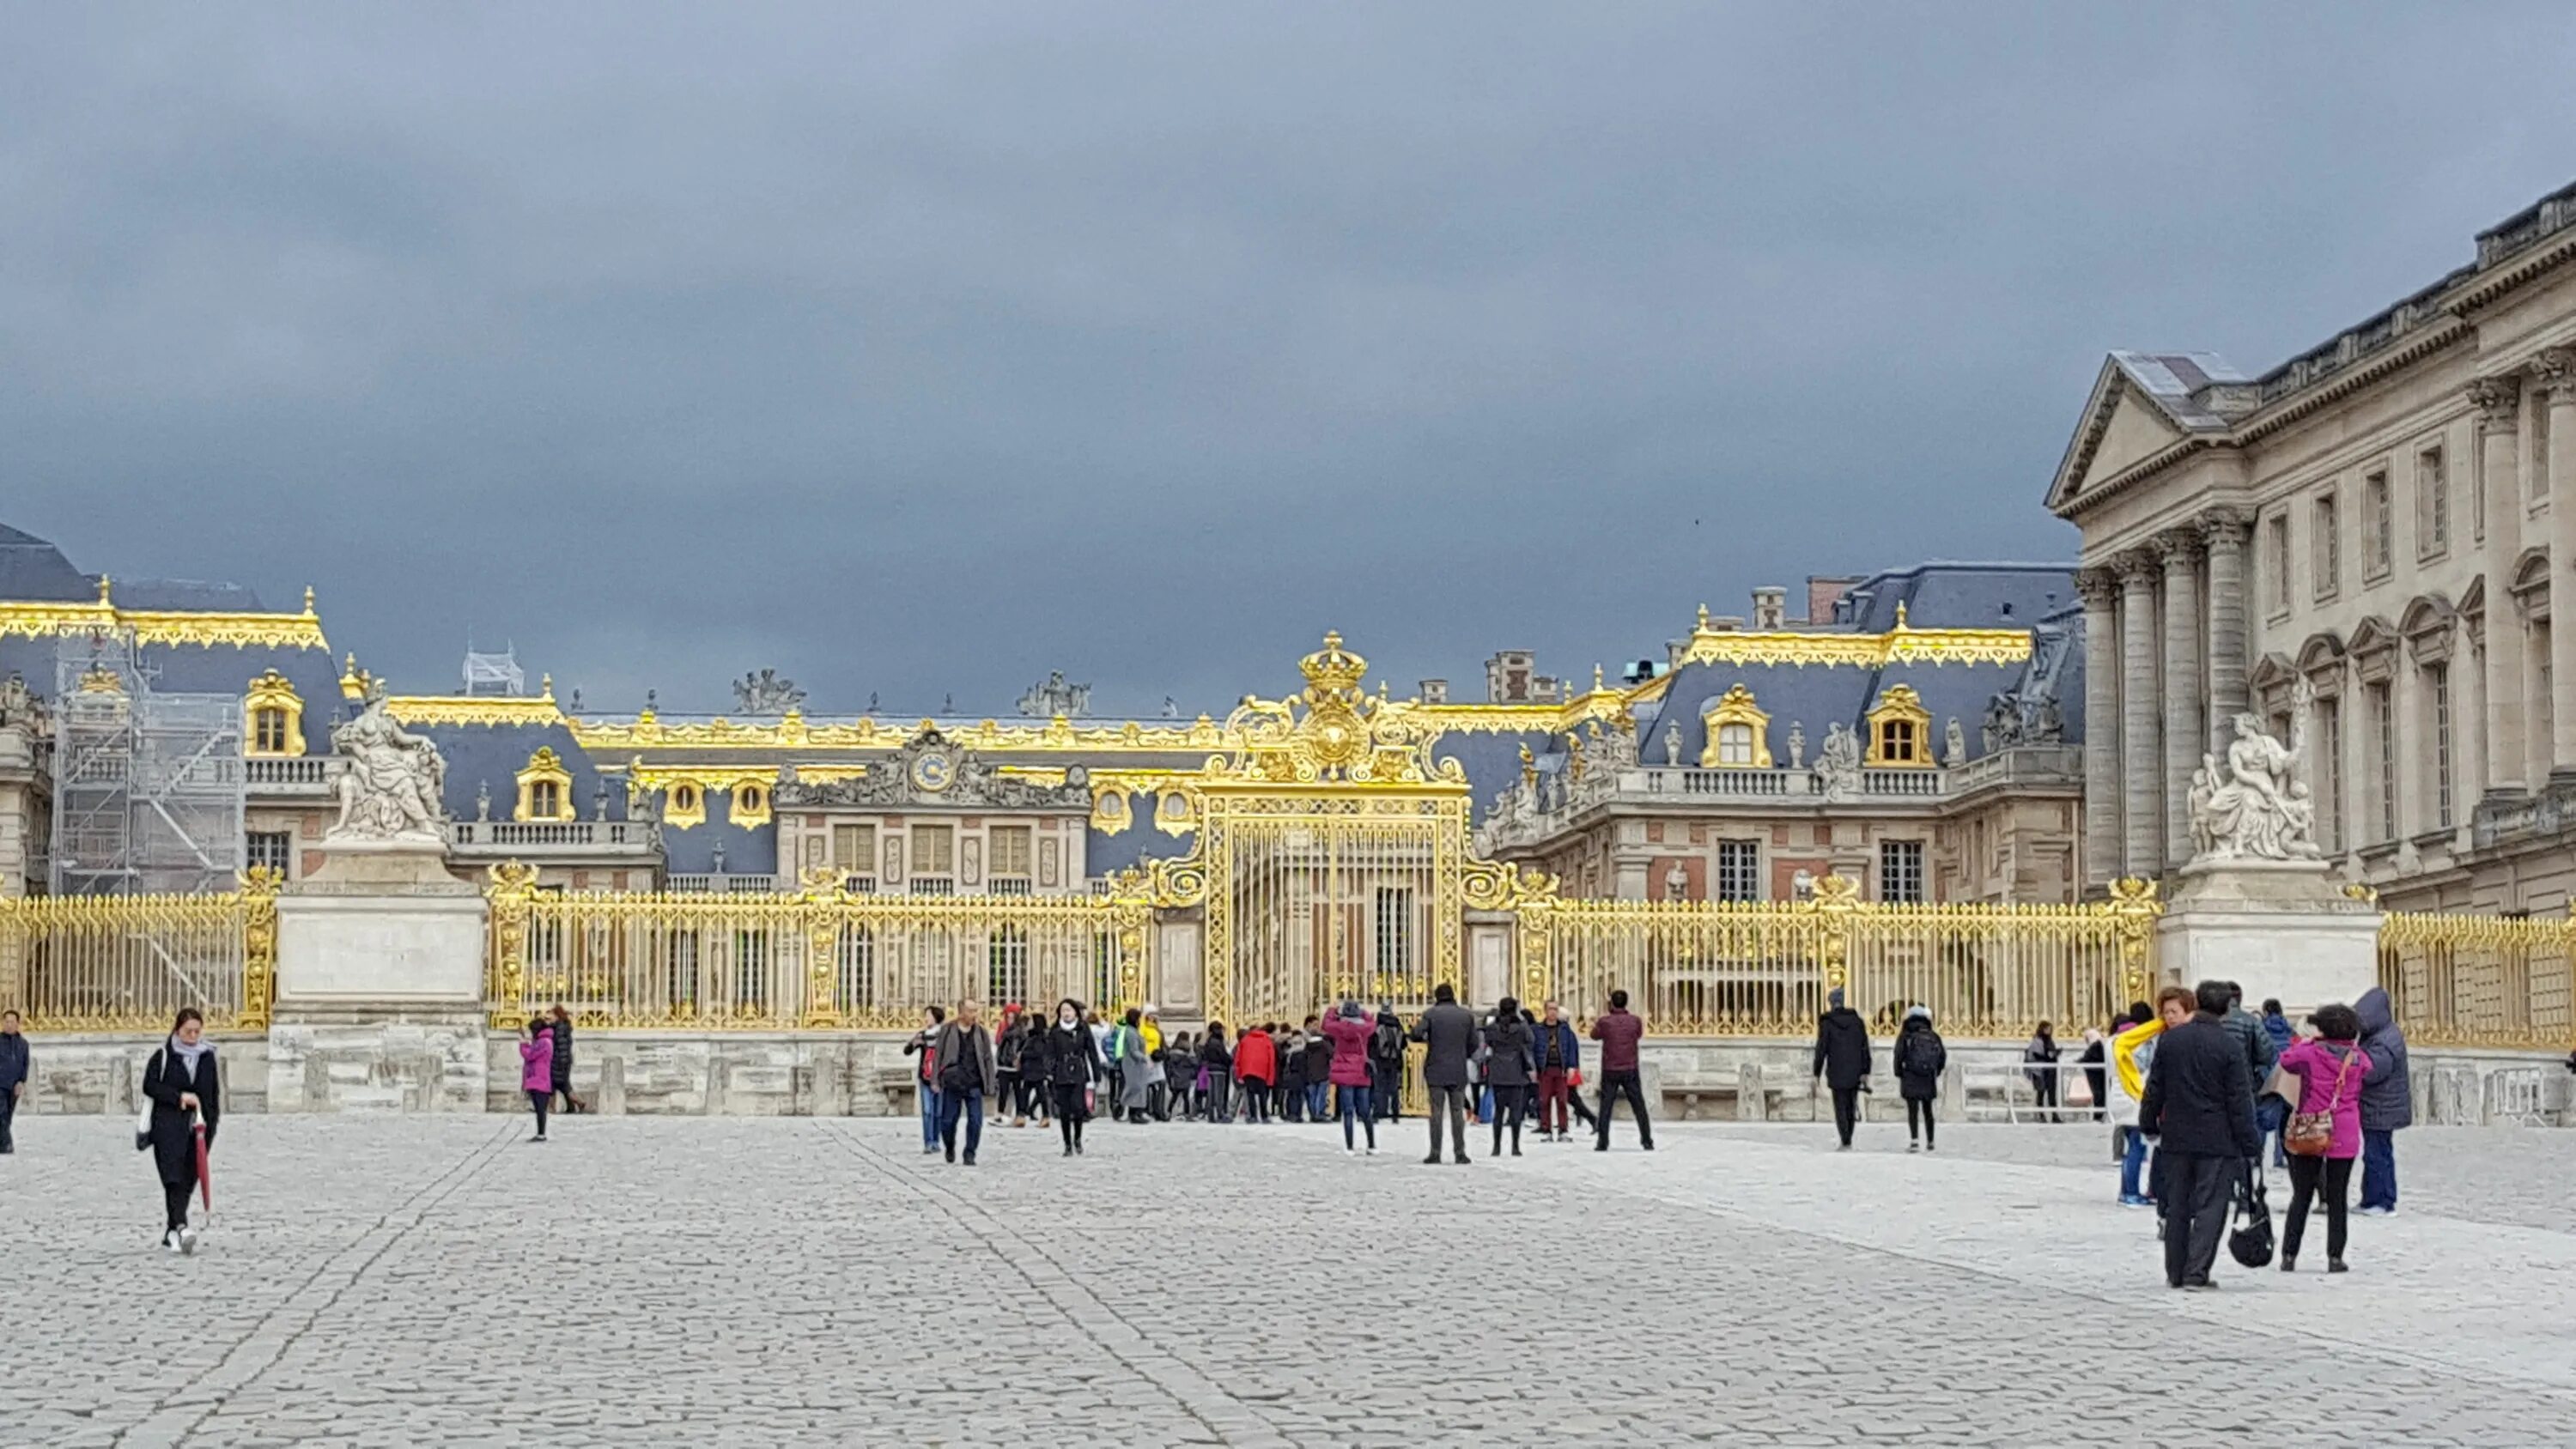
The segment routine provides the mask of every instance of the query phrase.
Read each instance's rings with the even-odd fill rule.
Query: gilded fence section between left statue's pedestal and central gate
[[[585,1027],[909,1029],[956,1001],[1141,1001],[1149,909],[1103,896],[544,893],[523,865],[487,891],[489,1017],[562,1004]]]

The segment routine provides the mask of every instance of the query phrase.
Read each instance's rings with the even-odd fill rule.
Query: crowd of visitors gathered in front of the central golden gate
[[[914,1096],[922,1117],[922,1156],[974,1166],[984,1145],[984,1117],[1010,1114],[1012,1127],[1056,1127],[1064,1156],[1082,1156],[1092,1117],[1113,1122],[1340,1122],[1345,1153],[1378,1150],[1378,1125],[1401,1117],[1406,1048],[1422,1048],[1422,1086],[1430,1091],[1430,1156],[1468,1161],[1466,1122],[1492,1127],[1492,1156],[1520,1156],[1522,1130],[1535,1120],[1540,1140],[1571,1140],[1569,1114],[1610,1150],[1610,1107],[1628,1102],[1638,1145],[1654,1150],[1654,1125],[1638,1078],[1643,1024],[1628,1011],[1628,993],[1610,993],[1610,1011],[1592,1022],[1600,1042],[1600,1109],[1584,1104],[1582,1037],[1556,1001],[1546,1014],[1504,996],[1494,1011],[1458,1004],[1448,983],[1432,993],[1412,1024],[1394,1004],[1376,1009],[1355,999],[1301,1024],[1262,1022],[1239,1035],[1208,1022],[1195,1037],[1164,1032],[1154,1006],[1131,1006],[1103,1019],[1082,1001],[1056,1001],[1051,1017],[1002,1006],[999,1027],[981,1022],[981,1006],[961,1001],[922,1014],[922,1029],[904,1042],[914,1058]],[[533,1071],[533,1068],[531,1068]],[[961,1138],[963,1127],[963,1143]],[[1445,1132],[1443,1132],[1445,1127]],[[963,1148],[963,1153],[961,1153]]]

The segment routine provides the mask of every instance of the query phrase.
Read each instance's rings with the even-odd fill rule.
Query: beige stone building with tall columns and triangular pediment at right
[[[2195,854],[2239,715],[2300,749],[2316,839],[2388,906],[2576,888],[2576,188],[2246,376],[2112,353],[2048,507],[2084,533],[2087,880]]]

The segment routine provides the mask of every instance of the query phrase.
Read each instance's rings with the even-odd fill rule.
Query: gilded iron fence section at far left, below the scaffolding
[[[28,1032],[265,1029],[278,968],[278,875],[206,896],[0,898],[0,1006]]]

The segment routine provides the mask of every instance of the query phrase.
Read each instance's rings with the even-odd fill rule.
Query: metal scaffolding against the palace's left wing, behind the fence
[[[131,631],[54,656],[57,896],[196,896],[240,883],[242,697],[152,687]]]

